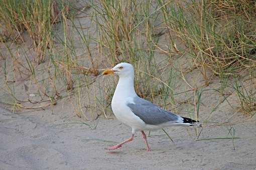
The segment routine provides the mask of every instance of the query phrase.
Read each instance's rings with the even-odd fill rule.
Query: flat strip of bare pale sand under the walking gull
[[[234,125],[236,136],[243,138],[233,140],[196,141],[190,135],[193,128],[169,127],[172,143],[162,130],[152,131],[151,152],[140,133],[129,144],[106,150],[131,135],[116,119],[89,122],[95,129],[72,122],[79,119],[60,124],[45,121],[38,112],[16,114],[1,108],[0,169],[256,169],[255,121]],[[205,131],[228,136],[226,132],[225,126]]]

